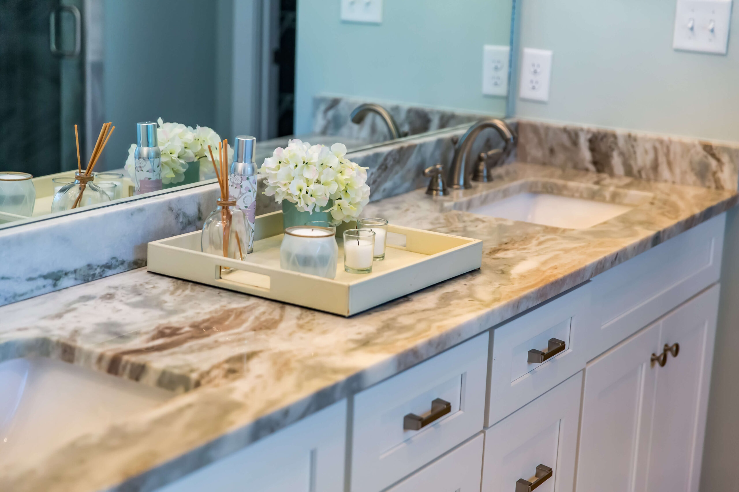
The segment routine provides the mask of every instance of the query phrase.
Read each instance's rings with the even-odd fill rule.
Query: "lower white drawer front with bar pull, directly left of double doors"
[[[538,492],[572,491],[581,389],[582,372],[486,429],[482,492],[518,491],[519,480]]]

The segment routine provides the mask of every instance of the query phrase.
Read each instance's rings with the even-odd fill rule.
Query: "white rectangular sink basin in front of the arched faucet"
[[[454,202],[453,209],[563,229],[587,229],[628,212],[650,193],[554,179],[525,179]]]

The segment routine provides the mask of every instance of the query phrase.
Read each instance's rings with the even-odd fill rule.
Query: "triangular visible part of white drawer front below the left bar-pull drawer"
[[[480,433],[387,492],[480,492],[483,440]]]

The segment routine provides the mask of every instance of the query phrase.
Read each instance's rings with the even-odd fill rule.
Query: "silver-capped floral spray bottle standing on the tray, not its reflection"
[[[228,174],[228,194],[236,200],[236,207],[246,215],[249,229],[249,253],[254,250],[254,223],[256,221],[256,138],[239,135],[234,143],[234,162]]]

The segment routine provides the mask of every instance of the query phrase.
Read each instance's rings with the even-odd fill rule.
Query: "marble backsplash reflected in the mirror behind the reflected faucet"
[[[386,141],[389,138],[387,128],[377,115],[369,114],[360,124],[350,120],[352,111],[363,103],[377,103],[383,106],[395,118],[401,132],[406,131],[410,136],[452,128],[488,117],[486,114],[471,111],[460,112],[352,97],[316,96],[313,97],[313,133],[344,136],[371,143]]]

